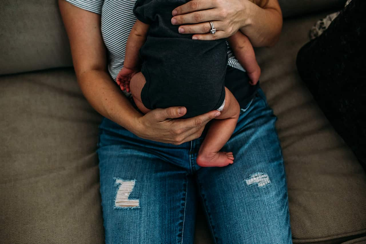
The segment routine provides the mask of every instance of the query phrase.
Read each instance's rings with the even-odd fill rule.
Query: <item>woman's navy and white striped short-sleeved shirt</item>
[[[134,0],[66,0],[69,3],[101,14],[101,31],[105,46],[108,49],[108,71],[113,80],[123,67],[124,56],[126,54],[126,42],[128,35],[136,21],[132,10],[135,5]],[[228,43],[227,43],[228,45]],[[229,47],[229,45],[228,45]],[[235,58],[231,48],[228,48],[228,65],[239,70],[243,70],[239,61]],[[130,93],[124,91],[126,96]]]

